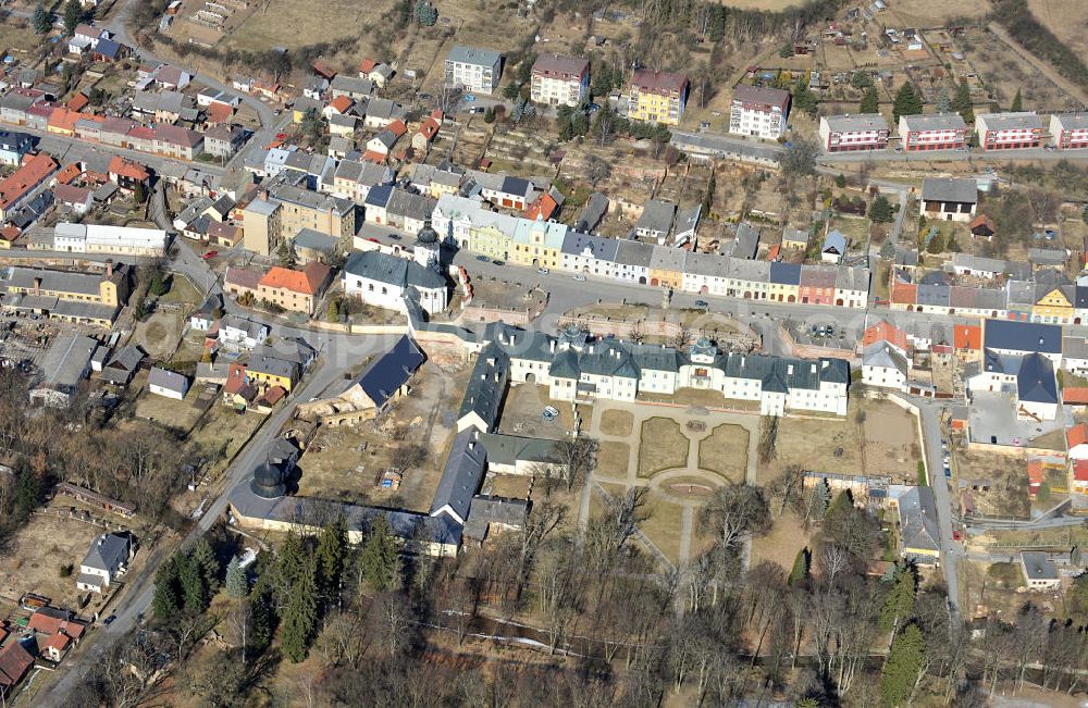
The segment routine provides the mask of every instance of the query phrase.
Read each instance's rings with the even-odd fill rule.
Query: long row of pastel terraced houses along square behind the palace
[[[516,265],[684,293],[848,308],[864,308],[869,293],[865,266],[756,261],[605,238],[557,222],[499,214],[455,195],[438,198],[431,223],[458,248]]]

